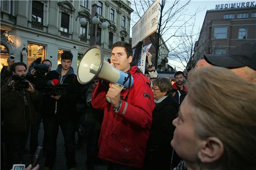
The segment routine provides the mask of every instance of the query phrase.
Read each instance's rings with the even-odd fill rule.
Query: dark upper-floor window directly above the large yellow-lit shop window
[[[33,0],[32,1],[32,22],[43,24],[44,4]]]

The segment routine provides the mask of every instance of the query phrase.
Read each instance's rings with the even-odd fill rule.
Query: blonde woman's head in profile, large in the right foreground
[[[188,95],[173,120],[174,170],[256,170],[256,85],[220,67],[188,74]]]

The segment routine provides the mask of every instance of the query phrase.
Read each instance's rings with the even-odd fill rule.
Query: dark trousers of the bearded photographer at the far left
[[[5,134],[6,160],[8,160],[8,167],[10,169],[13,164],[20,164],[23,161],[28,134],[29,128],[24,133]]]

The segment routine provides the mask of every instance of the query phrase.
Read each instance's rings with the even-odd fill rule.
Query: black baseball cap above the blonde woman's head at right
[[[203,56],[211,65],[226,68],[248,66],[256,71],[256,41],[241,43],[225,55],[204,54]]]

